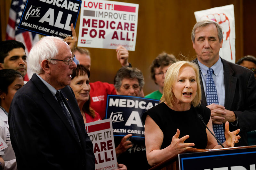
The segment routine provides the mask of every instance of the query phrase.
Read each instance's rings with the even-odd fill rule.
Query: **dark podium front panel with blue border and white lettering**
[[[180,170],[255,170],[256,148],[179,154]]]

